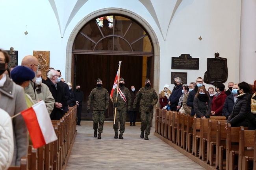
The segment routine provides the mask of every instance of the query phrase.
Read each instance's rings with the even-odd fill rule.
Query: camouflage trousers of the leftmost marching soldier
[[[105,121],[104,110],[102,111],[94,110],[93,111],[93,129],[94,130],[98,129],[98,132],[102,132],[104,121]]]

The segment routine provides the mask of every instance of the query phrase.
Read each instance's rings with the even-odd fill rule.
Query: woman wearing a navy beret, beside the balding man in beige
[[[32,69],[27,68],[25,66],[16,66],[11,71],[11,78],[13,79],[13,81],[16,84],[22,86],[24,90],[28,88],[30,80],[32,80],[34,77],[35,77],[34,71],[32,71]],[[25,95],[27,107],[30,108],[34,103],[29,95],[25,93],[24,95]]]

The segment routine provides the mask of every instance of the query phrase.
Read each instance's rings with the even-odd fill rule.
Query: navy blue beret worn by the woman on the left
[[[25,66],[16,66],[11,70],[11,79],[14,82],[24,82],[35,78],[35,73],[32,69]]]

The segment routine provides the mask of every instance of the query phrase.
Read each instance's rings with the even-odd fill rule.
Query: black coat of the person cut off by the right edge
[[[256,100],[256,95],[254,97],[252,97],[252,95],[250,95],[248,97],[247,106],[246,106],[246,109],[245,109],[245,116],[249,120],[248,130],[256,130],[256,114],[253,114],[251,112],[251,108],[250,108],[250,104],[251,104],[252,99],[255,101]]]

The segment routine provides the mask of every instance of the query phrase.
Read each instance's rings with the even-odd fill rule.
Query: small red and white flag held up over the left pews
[[[26,122],[33,148],[39,148],[58,139],[44,101],[22,111],[21,115]]]

